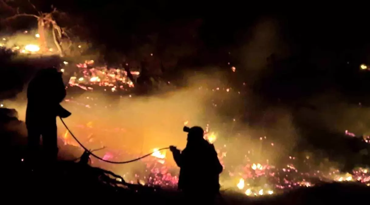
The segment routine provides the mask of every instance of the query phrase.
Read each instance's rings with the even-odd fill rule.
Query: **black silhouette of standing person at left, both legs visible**
[[[40,152],[40,136],[43,137],[43,157],[55,162],[58,155],[56,117],[71,115],[61,105],[66,91],[62,73],[56,68],[38,71],[28,84],[26,127],[28,131],[28,157],[31,164]]]

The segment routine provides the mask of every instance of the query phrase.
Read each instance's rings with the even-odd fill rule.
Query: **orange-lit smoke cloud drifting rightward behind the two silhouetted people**
[[[288,46],[279,49],[286,44],[277,37],[277,28],[275,21],[268,19],[256,22],[252,32],[255,35],[246,38],[250,44],[243,47],[238,57],[241,63],[233,73],[236,76],[225,74],[224,71],[217,72],[218,69],[212,67],[203,74],[186,75],[188,83],[184,88],[145,97],[112,97],[104,91],[77,95],[67,90],[68,102],[63,102],[63,106],[73,114],[65,122],[76,137],[91,145],[91,149],[107,147],[97,152],[101,156],[109,151],[145,154],[153,148],[168,145],[184,148],[186,134],[182,132],[182,127],[185,122],[188,122],[188,126],[206,127],[208,124],[210,132],[215,132],[217,137],[214,142],[216,148],[233,146],[226,154],[225,163],[228,165],[242,164],[245,154],[252,152],[254,162],[269,159],[270,164],[279,166],[285,163],[293,150],[296,154],[314,152],[322,144],[320,139],[328,136],[326,132],[365,132],[367,126],[364,121],[369,116],[368,108],[343,103],[341,95],[322,92],[306,97],[303,100],[305,103],[301,104],[321,108],[315,110],[295,106],[299,104],[295,102],[271,103],[270,99],[266,100],[265,93],[253,89],[256,83],[265,80],[263,71],[268,69],[266,58],[270,54],[282,53],[282,58],[290,55]],[[264,32],[265,35],[261,35]],[[255,53],[258,49],[260,54]],[[251,75],[246,77],[251,80],[241,81],[240,78],[249,72]],[[22,100],[4,101],[6,107],[19,111],[21,120],[24,119],[25,103]],[[58,128],[59,136],[63,138],[65,129],[59,122]],[[23,133],[26,132],[23,130]],[[307,140],[312,136],[315,143]],[[325,143],[329,142],[327,140]],[[63,149],[61,147],[61,151]],[[324,149],[324,146],[320,149]],[[322,160],[322,156],[318,156],[317,160]],[[127,159],[120,156],[118,160]],[[166,160],[174,165],[170,153],[167,153]],[[138,163],[117,166],[113,171],[122,173],[122,170],[134,170],[139,167]]]

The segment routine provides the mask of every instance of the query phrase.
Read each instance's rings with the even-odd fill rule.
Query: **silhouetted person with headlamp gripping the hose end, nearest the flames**
[[[201,127],[184,127],[184,131],[188,132],[185,149],[180,152],[170,146],[175,162],[180,167],[178,188],[184,192],[186,199],[212,204],[219,194],[222,165],[213,144],[203,138]]]

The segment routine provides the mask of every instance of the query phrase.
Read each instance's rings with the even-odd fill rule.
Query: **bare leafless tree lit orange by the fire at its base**
[[[41,51],[47,51],[47,41],[46,41],[46,33],[48,32],[48,29],[51,28],[51,33],[53,34],[53,40],[54,44],[58,49],[58,52],[60,56],[64,56],[64,50],[61,46],[61,39],[62,37],[66,37],[70,39],[68,34],[65,32],[65,28],[61,28],[58,24],[57,21],[55,20],[54,16],[57,14],[63,14],[62,12],[58,11],[57,8],[53,7],[51,5],[51,11],[48,13],[44,13],[41,11],[38,11],[36,9],[36,6],[28,0],[28,3],[33,7],[35,10],[36,14],[29,14],[29,13],[20,13],[19,12],[19,7],[15,10],[15,13],[13,16],[7,17],[5,21],[11,21],[20,17],[32,17],[37,20],[37,30],[38,34],[40,35],[38,40],[40,44],[40,50]],[[1,5],[6,5],[8,8],[11,8],[6,2],[1,0]],[[71,41],[69,40],[69,43],[71,45]]]

